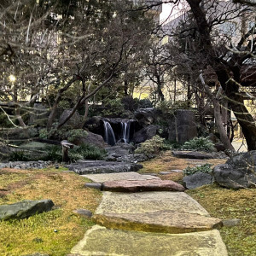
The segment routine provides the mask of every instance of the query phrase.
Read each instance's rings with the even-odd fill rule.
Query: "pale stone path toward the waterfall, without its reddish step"
[[[96,183],[119,180],[161,182],[136,172],[84,175]],[[73,255],[226,256],[218,218],[183,192],[102,192],[94,225]]]

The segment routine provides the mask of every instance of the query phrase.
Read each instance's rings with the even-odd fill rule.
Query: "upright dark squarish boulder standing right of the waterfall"
[[[168,139],[177,143],[185,143],[197,137],[195,113],[187,109],[177,109],[169,121]]]

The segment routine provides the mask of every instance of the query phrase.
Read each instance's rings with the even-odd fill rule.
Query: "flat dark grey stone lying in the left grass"
[[[20,201],[15,204],[0,206],[0,219],[28,218],[41,212],[48,212],[54,206],[53,201]]]

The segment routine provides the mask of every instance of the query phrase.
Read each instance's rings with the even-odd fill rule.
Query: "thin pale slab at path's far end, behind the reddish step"
[[[113,172],[113,173],[102,173],[102,174],[86,174],[82,175],[87,177],[95,183],[104,183],[107,181],[114,180],[150,180],[159,179],[160,177],[154,177],[151,175],[141,175],[137,172]]]

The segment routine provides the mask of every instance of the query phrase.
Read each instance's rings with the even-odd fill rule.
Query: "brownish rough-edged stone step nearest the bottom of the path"
[[[222,220],[185,212],[95,214],[93,220],[109,229],[182,234],[222,227]]]

